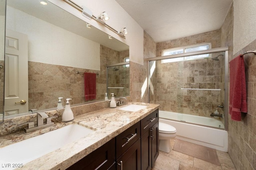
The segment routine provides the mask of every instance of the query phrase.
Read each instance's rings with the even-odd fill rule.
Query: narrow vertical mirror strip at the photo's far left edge
[[[0,0],[0,123],[4,121],[4,34],[5,0]]]

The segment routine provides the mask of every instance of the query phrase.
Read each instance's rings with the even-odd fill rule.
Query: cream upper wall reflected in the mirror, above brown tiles
[[[100,70],[99,43],[12,7],[7,12],[6,28],[28,35],[28,61]]]

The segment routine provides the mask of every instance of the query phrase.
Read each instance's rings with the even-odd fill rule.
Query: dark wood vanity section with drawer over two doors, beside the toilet
[[[158,109],[141,120],[141,169],[150,170],[159,155]]]

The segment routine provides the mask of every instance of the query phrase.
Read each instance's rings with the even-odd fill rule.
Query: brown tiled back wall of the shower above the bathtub
[[[211,42],[212,48],[220,47],[220,30],[157,43],[156,53],[157,56],[161,56],[164,49],[204,42]],[[212,55],[212,57],[217,57],[220,53]],[[222,103],[224,92],[181,90],[180,88],[222,88],[223,64],[221,60],[211,59],[165,64],[156,61],[156,74],[153,73],[151,77],[152,86],[156,88],[154,88],[154,93],[150,89],[150,102],[160,104],[162,110],[210,117],[210,113]],[[219,111],[223,112],[221,109]]]

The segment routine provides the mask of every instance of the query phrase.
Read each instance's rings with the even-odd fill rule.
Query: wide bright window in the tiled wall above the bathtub
[[[189,45],[189,46],[184,46],[184,47],[179,47],[179,48],[174,48],[174,49],[163,50],[162,56],[181,54],[181,53],[190,53],[190,52],[194,52],[194,51],[208,50],[211,48],[212,48],[211,43]],[[162,63],[172,63],[172,62],[178,62],[178,61],[187,61],[187,60],[196,60],[196,59],[205,59],[205,58],[210,58],[210,54],[164,59],[164,60],[162,60]]]

